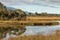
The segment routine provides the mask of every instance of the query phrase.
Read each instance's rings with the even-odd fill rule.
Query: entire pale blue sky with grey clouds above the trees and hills
[[[29,12],[60,13],[60,0],[0,0],[0,2]]]

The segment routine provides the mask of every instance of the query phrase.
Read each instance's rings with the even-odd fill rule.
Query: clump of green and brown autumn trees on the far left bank
[[[26,14],[21,9],[10,10],[7,9],[2,3],[0,3],[0,20],[20,20],[21,17],[25,17]]]

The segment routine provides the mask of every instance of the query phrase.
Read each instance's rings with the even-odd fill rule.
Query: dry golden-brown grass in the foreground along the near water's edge
[[[57,30],[54,35],[31,35],[31,36],[21,36],[10,38],[9,40],[60,40],[60,31]]]

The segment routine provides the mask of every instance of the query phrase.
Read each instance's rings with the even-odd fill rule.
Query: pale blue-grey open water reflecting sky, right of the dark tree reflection
[[[52,34],[55,33],[56,30],[60,30],[60,25],[57,26],[26,26],[25,35],[35,35],[35,34]]]

